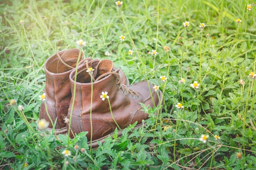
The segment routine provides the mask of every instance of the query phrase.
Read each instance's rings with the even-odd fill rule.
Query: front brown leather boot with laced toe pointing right
[[[112,62],[110,60],[102,60],[107,63],[98,66],[98,70],[112,70]],[[70,137],[83,131],[88,131],[88,144],[90,144],[91,125],[90,125],[90,107],[91,107],[91,78],[87,72],[88,66],[85,64],[78,67],[76,82],[74,81],[75,72],[70,73],[70,83],[72,94],[76,83],[76,92],[74,107],[72,110],[72,119],[67,123],[67,128],[70,125]],[[108,135],[112,135],[117,124],[121,129],[126,128],[129,124],[137,121],[137,127],[141,126],[141,121],[148,119],[148,114],[142,111],[139,103],[144,103],[151,108],[160,104],[159,97],[162,97],[162,92],[155,92],[153,85],[146,81],[138,82],[131,86],[126,86],[120,83],[119,69],[113,69],[110,72],[100,72],[97,79],[93,82],[93,98],[92,98],[92,146],[97,146],[97,141],[102,141]],[[150,95],[152,93],[152,97]],[[112,114],[115,121],[112,119],[108,99],[104,101],[101,98],[102,92],[108,92]],[[158,93],[158,95],[157,95]],[[72,95],[73,97],[73,95]],[[103,96],[104,97],[104,96]],[[105,96],[106,97],[106,96]],[[72,99],[73,100],[73,99]],[[154,102],[153,102],[154,100]],[[67,117],[70,117],[71,105],[68,110]],[[121,130],[119,130],[121,135]]]

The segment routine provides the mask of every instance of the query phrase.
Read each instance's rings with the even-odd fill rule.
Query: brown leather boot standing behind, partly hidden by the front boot
[[[71,88],[69,75],[71,71],[75,71],[76,62],[79,57],[79,49],[70,49],[68,51],[60,51],[45,62],[45,102],[42,102],[39,110],[39,119],[45,119],[51,122],[45,108],[47,104],[47,111],[53,123],[56,121],[56,134],[65,134],[67,132],[65,119],[67,117],[68,108],[70,106]],[[81,52],[80,63],[89,61],[91,66],[96,67],[99,59],[92,60],[91,58],[83,59],[83,52]],[[79,63],[79,64],[80,64]],[[95,72],[97,73],[97,72]],[[122,82],[129,84],[124,72],[120,72]],[[52,132],[52,124],[46,128],[47,131]],[[40,130],[38,128],[38,130]]]

